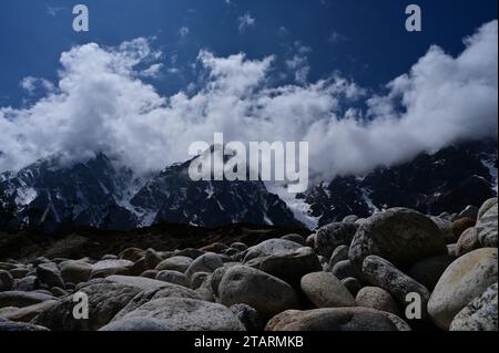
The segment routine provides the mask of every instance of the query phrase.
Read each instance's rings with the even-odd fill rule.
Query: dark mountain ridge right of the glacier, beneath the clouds
[[[319,226],[349,215],[408,207],[429,215],[460,212],[497,196],[497,142],[473,142],[421,154],[367,176],[340,176],[312,187],[298,198],[310,205]]]

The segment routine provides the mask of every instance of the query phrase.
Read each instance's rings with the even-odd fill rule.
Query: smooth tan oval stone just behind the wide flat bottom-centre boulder
[[[302,279],[302,290],[317,308],[355,307],[348,289],[329,272],[315,272]]]

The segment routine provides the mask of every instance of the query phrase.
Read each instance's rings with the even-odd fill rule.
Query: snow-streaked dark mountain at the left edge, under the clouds
[[[122,203],[134,183],[132,170],[103,154],[72,165],[60,156],[39,160],[0,175],[0,227],[132,229],[136,217]]]

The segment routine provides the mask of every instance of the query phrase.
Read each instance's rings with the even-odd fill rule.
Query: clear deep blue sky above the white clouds
[[[19,106],[26,76],[57,81],[62,52],[88,42],[118,45],[156,38],[170,70],[154,82],[162,94],[193,81],[191,64],[201,49],[220,56],[244,52],[251,59],[275,54],[274,80],[292,80],[286,61],[307,48],[308,79],[335,71],[364,87],[377,89],[407,72],[438,44],[451,54],[462,38],[497,18],[497,0],[411,1],[422,9],[424,30],[404,29],[408,1],[388,0],[86,0],[90,32],[75,33],[75,1],[0,1],[0,106]],[[254,24],[240,30],[248,14]],[[181,29],[185,35],[181,35]],[[279,73],[279,74],[278,74]]]

